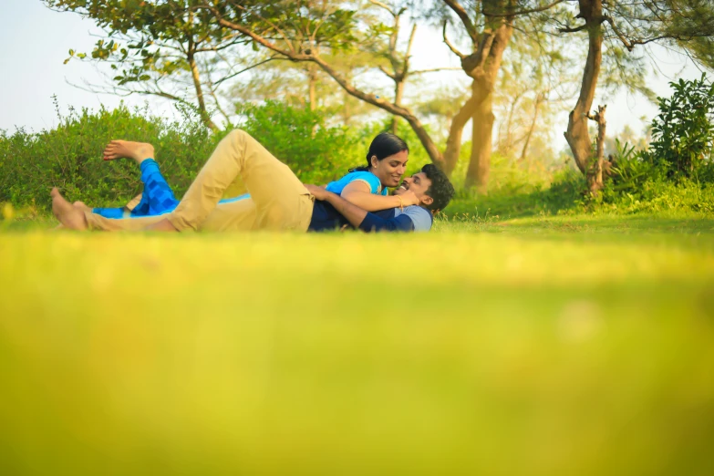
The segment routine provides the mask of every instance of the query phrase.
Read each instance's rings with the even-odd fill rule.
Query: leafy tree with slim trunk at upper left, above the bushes
[[[212,109],[226,119],[219,88],[245,67],[235,57],[243,36],[215,24],[196,0],[43,0],[60,12],[92,19],[107,33],[90,55],[70,57],[107,62],[114,74],[109,88],[95,91],[167,98],[195,109],[203,123],[219,129]],[[244,2],[243,2],[244,3]],[[243,52],[245,48],[243,48]]]

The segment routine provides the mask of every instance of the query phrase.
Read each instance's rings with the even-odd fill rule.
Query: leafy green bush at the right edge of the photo
[[[602,193],[584,193],[590,212],[714,212],[714,86],[705,76],[669,83],[671,98],[659,98],[653,141],[636,150],[616,140],[616,153]]]

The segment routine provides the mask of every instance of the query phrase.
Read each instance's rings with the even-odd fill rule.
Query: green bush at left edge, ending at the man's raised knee
[[[140,174],[133,160],[101,160],[112,139],[151,142],[161,171],[181,196],[216,138],[190,114],[170,122],[123,104],[112,111],[70,109],[66,116],[59,115],[56,129],[0,131],[0,202],[36,204],[47,211],[49,191],[57,186],[71,201],[124,205],[140,193]]]

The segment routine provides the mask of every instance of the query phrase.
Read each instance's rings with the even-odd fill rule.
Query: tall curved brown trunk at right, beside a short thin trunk
[[[588,165],[592,157],[590,134],[587,131],[587,116],[593,107],[597,78],[600,75],[600,66],[603,61],[603,3],[602,0],[579,0],[580,15],[585,19],[588,36],[587,59],[583,71],[583,83],[580,86],[580,96],[575,103],[575,108],[570,111],[568,129],[565,131],[565,140],[568,141],[570,150],[577,168],[587,174]]]

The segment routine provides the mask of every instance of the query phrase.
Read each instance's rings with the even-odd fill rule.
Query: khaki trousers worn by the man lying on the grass
[[[251,198],[217,205],[239,174]],[[119,220],[92,212],[85,212],[85,216],[89,230],[137,231],[168,219],[179,231],[305,232],[312,218],[313,200],[293,171],[248,133],[236,129],[221,140],[173,212]]]

